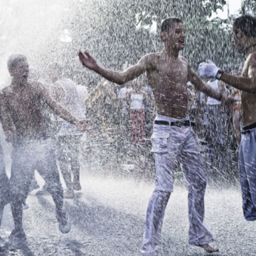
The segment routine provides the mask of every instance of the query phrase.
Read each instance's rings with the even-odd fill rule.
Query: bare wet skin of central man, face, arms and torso
[[[202,82],[191,70],[188,61],[178,53],[184,48],[185,28],[182,23],[175,23],[169,32],[162,32],[164,49],[160,53],[143,56],[136,65],[124,72],[116,72],[97,65],[88,52],[79,52],[79,58],[85,67],[117,84],[124,84],[146,72],[152,88],[157,113],[182,119],[188,113],[187,83],[190,81],[196,89],[218,99],[220,94]]]

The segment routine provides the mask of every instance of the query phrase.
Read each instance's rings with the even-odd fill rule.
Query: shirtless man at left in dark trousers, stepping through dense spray
[[[24,55],[11,55],[7,66],[12,82],[1,91],[3,130],[8,133],[8,127],[12,123],[15,126],[15,133],[9,139],[13,145],[10,187],[15,229],[9,240],[19,247],[26,242],[22,228],[22,202],[29,192],[35,169],[48,184],[48,192],[55,202],[60,231],[67,233],[71,228],[63,210],[63,189],[56,166],[54,143],[47,134],[47,123],[44,122],[43,104],[82,131],[86,130],[87,124],[58,105],[42,84],[27,79],[29,66]]]

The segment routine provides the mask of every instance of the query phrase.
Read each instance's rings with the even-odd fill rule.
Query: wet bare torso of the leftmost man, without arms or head
[[[42,138],[46,134],[45,103],[41,96],[41,86],[43,85],[29,80],[25,85],[9,85],[3,89],[4,104],[8,104],[16,137],[20,139]]]

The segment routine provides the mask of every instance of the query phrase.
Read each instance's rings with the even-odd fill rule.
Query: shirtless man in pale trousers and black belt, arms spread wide
[[[79,52],[85,67],[117,84],[124,84],[146,72],[152,87],[157,116],[154,120],[152,152],[155,157],[155,189],[148,204],[146,228],[143,236],[143,255],[157,255],[161,226],[166,204],[173,191],[173,172],[178,160],[189,192],[189,244],[200,246],[207,252],[216,252],[208,243],[211,232],[204,226],[204,194],[206,178],[200,147],[191,130],[188,117],[187,82],[207,95],[221,99],[221,93],[204,84],[190,68],[188,61],[179,56],[185,45],[185,28],[178,18],[168,18],[161,26],[164,49],[150,53],[124,72],[100,67],[89,55]]]

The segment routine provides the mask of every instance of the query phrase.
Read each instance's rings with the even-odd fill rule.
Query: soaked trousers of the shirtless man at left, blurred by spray
[[[47,191],[52,195],[57,214],[62,212],[63,189],[54,145],[54,141],[48,138],[22,140],[13,147],[10,187],[15,230],[22,229],[22,202],[27,198],[35,169],[47,184]]]

